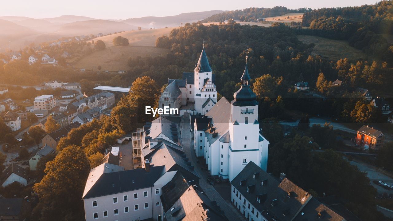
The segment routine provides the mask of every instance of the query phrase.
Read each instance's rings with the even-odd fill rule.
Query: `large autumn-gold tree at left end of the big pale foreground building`
[[[84,220],[81,200],[90,164],[81,148],[71,145],[64,148],[54,160],[46,164],[46,175],[33,190],[39,196],[34,212],[40,220]]]

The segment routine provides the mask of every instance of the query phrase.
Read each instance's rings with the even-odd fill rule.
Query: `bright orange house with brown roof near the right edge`
[[[362,146],[365,150],[377,151],[384,145],[384,142],[385,134],[368,125],[360,127],[356,133],[355,144]]]

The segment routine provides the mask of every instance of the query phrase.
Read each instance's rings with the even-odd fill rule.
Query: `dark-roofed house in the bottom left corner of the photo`
[[[22,198],[0,198],[0,220],[24,221],[31,214],[31,206]]]

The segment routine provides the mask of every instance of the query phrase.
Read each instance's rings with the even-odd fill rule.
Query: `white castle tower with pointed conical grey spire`
[[[209,107],[212,102],[214,104],[217,103],[217,90],[212,77],[213,74],[203,44],[202,52],[200,53],[198,63],[196,63],[194,69],[195,110],[200,114],[204,114],[206,111],[206,109],[202,110],[202,105],[206,102],[209,103]]]

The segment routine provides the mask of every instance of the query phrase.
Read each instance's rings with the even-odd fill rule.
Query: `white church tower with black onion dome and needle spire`
[[[250,88],[250,75],[246,67],[241,80],[241,88],[233,94],[231,102],[231,116],[229,120],[230,150],[229,150],[229,180],[253,161],[261,162],[259,147],[258,102],[256,95]],[[266,168],[263,168],[266,170]]]

